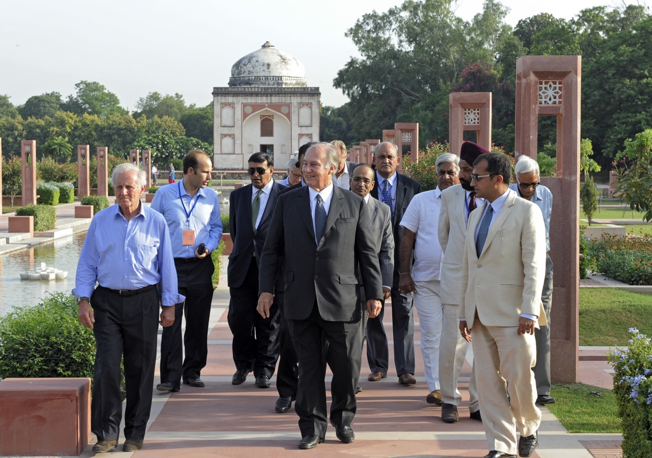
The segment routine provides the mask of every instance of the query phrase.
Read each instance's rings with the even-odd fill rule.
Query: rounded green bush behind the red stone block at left
[[[74,296],[52,293],[0,321],[0,377],[89,377],[95,337],[80,324]]]

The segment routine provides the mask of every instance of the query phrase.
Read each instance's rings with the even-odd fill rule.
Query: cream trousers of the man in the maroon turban
[[[466,358],[469,343],[462,338],[460,333],[460,319],[457,317],[459,306],[443,305],[443,321],[441,341],[439,342],[439,385],[441,399],[447,404],[460,406],[462,395],[457,389],[457,380],[462,371],[462,364]],[[478,392],[475,387],[475,356],[473,357],[473,371],[469,382],[469,410],[475,412],[478,405]]]

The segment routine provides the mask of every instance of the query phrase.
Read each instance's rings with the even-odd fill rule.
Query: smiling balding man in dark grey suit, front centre
[[[324,338],[333,370],[331,424],[342,442],[355,440],[351,421],[362,356],[358,284],[363,283],[368,298],[368,317],[378,315],[383,297],[367,205],[333,186],[338,162],[330,143],[308,149],[303,164],[308,186],[278,197],[260,259],[258,311],[263,317],[274,302],[281,259],[286,263],[284,308],[299,356],[295,411],[301,449],[315,448],[326,435],[325,367],[320,357]]]

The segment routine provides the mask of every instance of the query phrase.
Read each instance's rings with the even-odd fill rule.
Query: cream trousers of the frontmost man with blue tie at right
[[[478,399],[489,450],[516,454],[516,427],[533,435],[541,423],[537,384],[531,370],[537,362],[532,334],[518,336],[516,326],[484,326],[475,317],[471,338],[475,371],[482,383]],[[507,390],[509,385],[509,396]]]

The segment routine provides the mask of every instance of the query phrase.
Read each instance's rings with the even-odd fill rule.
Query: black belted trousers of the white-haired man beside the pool
[[[97,440],[117,440],[122,420],[120,363],[125,365],[125,438],[144,438],[156,365],[158,292],[123,297],[97,287],[91,297],[95,313],[95,371],[91,431]]]

